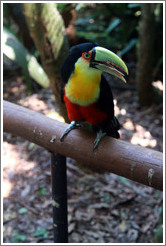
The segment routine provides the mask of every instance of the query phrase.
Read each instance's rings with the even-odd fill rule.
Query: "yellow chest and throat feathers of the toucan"
[[[88,106],[99,97],[100,79],[101,71],[90,68],[88,62],[79,58],[65,86],[66,96],[73,103]]]

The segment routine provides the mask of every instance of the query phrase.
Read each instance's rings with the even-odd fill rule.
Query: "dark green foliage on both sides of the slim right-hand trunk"
[[[58,4],[62,13],[75,8],[77,18],[75,22],[78,38],[95,41],[123,56],[134,50],[137,57],[139,44],[139,22],[142,3],[78,3]],[[156,72],[162,66],[162,4],[155,5],[156,20]]]

